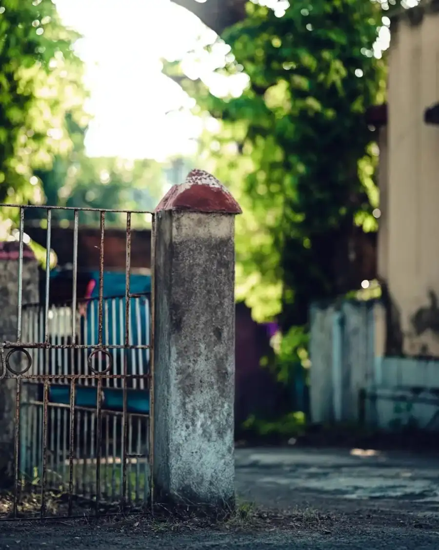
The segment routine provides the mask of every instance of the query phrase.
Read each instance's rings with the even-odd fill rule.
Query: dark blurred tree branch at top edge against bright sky
[[[227,27],[246,18],[247,0],[172,0],[174,4],[186,8],[196,15],[204,25],[220,35]]]

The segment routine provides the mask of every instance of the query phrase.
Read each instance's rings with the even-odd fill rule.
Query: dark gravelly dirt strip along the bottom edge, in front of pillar
[[[289,511],[241,509],[229,521],[150,516],[75,521],[5,522],[1,550],[125,550],[239,548],[240,550],[339,550],[391,548],[437,550],[436,518],[356,510],[326,514],[307,508]]]

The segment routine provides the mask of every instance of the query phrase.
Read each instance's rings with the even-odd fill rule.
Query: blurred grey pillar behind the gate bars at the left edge
[[[18,328],[19,243],[0,242],[0,343],[16,342]],[[32,250],[23,250],[23,304],[38,301],[38,263]],[[7,355],[8,350],[5,350]],[[10,366],[20,372],[27,363],[23,353],[10,357]],[[16,380],[0,359],[0,488],[13,483]],[[3,379],[1,379],[3,378]],[[21,401],[25,392],[21,392]]]

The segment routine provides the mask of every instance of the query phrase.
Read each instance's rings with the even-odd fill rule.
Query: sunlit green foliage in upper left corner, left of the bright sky
[[[66,121],[88,123],[77,38],[52,0],[0,0],[0,202],[40,203],[35,169],[73,147]]]

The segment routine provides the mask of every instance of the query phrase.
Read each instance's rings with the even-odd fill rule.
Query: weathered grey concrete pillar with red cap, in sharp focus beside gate
[[[235,215],[192,171],[157,206],[154,250],[154,498],[234,506]]]

